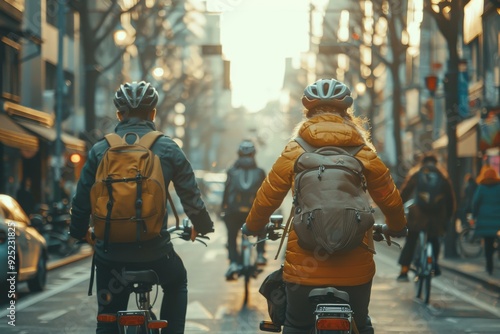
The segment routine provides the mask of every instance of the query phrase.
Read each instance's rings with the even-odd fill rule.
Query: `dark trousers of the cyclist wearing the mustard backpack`
[[[126,310],[130,291],[120,280],[123,270],[154,270],[163,289],[160,319],[167,320],[168,326],[162,334],[182,334],[186,321],[187,309],[187,273],[184,264],[174,251],[168,257],[153,262],[110,263],[96,258],[96,286],[98,314]],[[152,296],[156,287],[153,287]],[[154,298],[151,298],[153,301]],[[118,333],[116,323],[98,323],[96,333]]]

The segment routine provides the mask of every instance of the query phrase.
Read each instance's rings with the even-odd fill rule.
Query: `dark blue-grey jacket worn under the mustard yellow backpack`
[[[154,123],[137,118],[123,120],[115,128],[115,132],[120,136],[133,132],[142,137],[153,130],[155,130]],[[71,209],[70,234],[76,239],[84,238],[88,230],[91,216],[90,190],[95,182],[99,162],[108,148],[109,145],[106,140],[98,141],[90,149],[88,159],[83,166]],[[196,230],[202,234],[211,232],[213,222],[201,199],[193,169],[184,152],[167,136],[158,138],[152,146],[152,151],[161,160],[165,189],[168,189],[170,182],[172,182],[184,212],[192,221]],[[164,220],[165,227],[167,226],[167,218],[168,215]],[[95,252],[103,260],[143,262],[154,261],[167,255],[172,247],[170,236],[165,235],[144,241],[140,245],[136,243],[113,243],[108,246],[109,249],[106,253],[103,249],[103,242],[98,240],[95,245]]]

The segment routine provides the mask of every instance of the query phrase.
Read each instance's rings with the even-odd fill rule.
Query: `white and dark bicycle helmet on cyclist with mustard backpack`
[[[158,103],[158,92],[149,82],[140,81],[125,83],[115,93],[113,99],[116,109],[125,113],[128,111],[148,112]]]

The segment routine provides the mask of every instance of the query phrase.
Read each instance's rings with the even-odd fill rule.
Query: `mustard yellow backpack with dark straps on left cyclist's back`
[[[125,141],[136,136],[133,144]],[[142,138],[135,133],[105,136],[109,148],[97,168],[90,191],[92,221],[97,239],[125,243],[160,235],[168,192],[161,162],[150,147],[163,134],[152,131]]]

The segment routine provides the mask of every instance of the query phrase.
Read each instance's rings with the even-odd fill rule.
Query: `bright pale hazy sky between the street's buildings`
[[[233,105],[257,111],[278,99],[285,57],[308,46],[308,1],[220,0],[221,42],[231,61]]]

